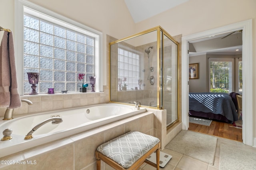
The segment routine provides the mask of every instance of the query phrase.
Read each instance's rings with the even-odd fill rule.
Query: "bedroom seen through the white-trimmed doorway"
[[[189,74],[193,72],[196,73],[195,76],[192,75],[192,77],[189,79],[190,119],[197,119],[198,117],[211,119],[213,122],[211,123],[210,127],[202,126],[200,131],[205,129],[204,133],[214,133],[214,135],[238,141],[242,141],[242,129],[233,128],[234,126],[232,125],[233,121],[238,119],[236,113],[237,104],[233,104],[232,102],[232,100],[236,101],[236,96],[233,96],[232,99],[229,94],[231,92],[236,92],[242,95],[241,32],[242,31],[240,30],[232,31],[230,33],[189,41],[189,64],[190,67],[192,66],[192,70],[189,72]],[[198,67],[198,69],[193,69],[194,66]],[[212,74],[213,71],[215,71],[215,74]],[[209,72],[211,72],[211,74],[209,74]],[[213,78],[214,75],[215,78]],[[218,78],[216,78],[216,75],[219,75]],[[222,82],[219,81],[220,78],[222,78]],[[225,80],[224,82],[223,78]],[[225,99],[225,103],[222,104],[225,107],[220,109],[220,105],[218,105],[220,107],[215,106],[213,108],[204,108],[204,106],[198,106],[197,104],[204,104],[206,100],[204,99],[204,96],[207,98],[209,97],[209,94],[205,94],[205,92],[225,92],[228,98]],[[199,93],[200,99],[198,98]],[[212,95],[213,93],[210,94]],[[216,95],[216,93],[214,94]],[[219,100],[220,98],[218,98],[218,101]],[[230,103],[232,106],[228,107]],[[223,116],[220,114],[212,114],[207,112],[222,113]],[[228,117],[228,119],[226,117]],[[242,117],[240,117],[239,121],[241,121],[241,119]],[[189,129],[196,131],[196,129],[199,129],[198,125],[196,125],[197,124],[190,123]],[[209,131],[209,128],[215,130]]]

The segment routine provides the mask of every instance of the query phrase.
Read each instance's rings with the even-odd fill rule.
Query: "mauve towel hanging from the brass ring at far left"
[[[0,46],[0,107],[21,107],[12,32],[4,31]]]

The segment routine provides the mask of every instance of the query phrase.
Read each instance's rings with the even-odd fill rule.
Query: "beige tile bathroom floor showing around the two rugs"
[[[162,152],[172,155],[172,159],[166,164],[164,168],[160,168],[160,170],[218,170],[219,169],[219,157],[220,157],[220,144],[230,145],[232,147],[237,147],[239,149],[255,151],[256,148],[244,145],[241,142],[233,141],[229,139],[224,139],[217,137],[217,147],[214,158],[214,165],[209,165],[205,162],[201,162],[199,160],[195,160],[188,156],[184,156],[182,154],[163,149]],[[140,170],[156,170],[156,168],[144,163]]]

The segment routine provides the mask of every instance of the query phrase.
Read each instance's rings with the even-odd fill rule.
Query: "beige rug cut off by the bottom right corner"
[[[256,153],[220,145],[219,170],[255,170]]]

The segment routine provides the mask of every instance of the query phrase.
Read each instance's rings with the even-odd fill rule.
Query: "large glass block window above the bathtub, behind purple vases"
[[[39,72],[39,93],[48,88],[78,92],[79,73],[86,74],[84,83],[90,82],[89,76],[95,75],[95,38],[74,30],[24,14],[24,94],[31,92],[27,72]]]

